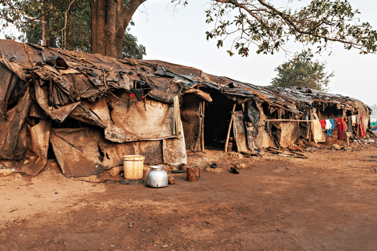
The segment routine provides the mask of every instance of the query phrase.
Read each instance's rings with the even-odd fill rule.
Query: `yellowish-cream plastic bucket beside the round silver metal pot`
[[[142,155],[125,155],[123,156],[124,178],[125,179],[142,179],[143,178]]]

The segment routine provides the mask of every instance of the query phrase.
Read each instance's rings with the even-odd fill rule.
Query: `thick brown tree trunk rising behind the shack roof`
[[[130,0],[123,6],[121,0],[91,0],[92,53],[121,58],[123,35],[137,7],[144,1]]]

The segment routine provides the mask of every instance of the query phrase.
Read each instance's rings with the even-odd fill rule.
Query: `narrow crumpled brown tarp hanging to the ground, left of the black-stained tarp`
[[[41,120],[37,125],[27,125],[27,153],[19,171],[35,176],[47,162],[51,120]]]

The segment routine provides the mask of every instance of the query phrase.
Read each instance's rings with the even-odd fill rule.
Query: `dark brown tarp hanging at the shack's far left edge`
[[[5,117],[0,118],[0,157],[3,159],[20,159],[20,155],[14,154],[16,146],[18,144],[24,145],[22,142],[18,142],[21,138],[18,137],[18,133],[25,123],[25,118],[29,106],[31,103],[31,97],[29,90],[24,94],[24,97],[18,101],[18,104],[12,109],[8,110]]]

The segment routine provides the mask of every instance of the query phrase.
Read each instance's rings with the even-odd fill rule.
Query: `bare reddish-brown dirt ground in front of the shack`
[[[188,153],[200,180],[165,188],[75,180],[49,160],[0,177],[0,250],[377,250],[377,145],[319,146],[307,159]]]

